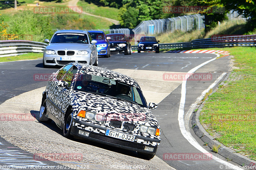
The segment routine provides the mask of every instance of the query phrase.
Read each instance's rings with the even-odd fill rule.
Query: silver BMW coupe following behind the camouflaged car
[[[43,65],[64,66],[71,62],[98,65],[96,40],[83,30],[56,31],[44,49]]]

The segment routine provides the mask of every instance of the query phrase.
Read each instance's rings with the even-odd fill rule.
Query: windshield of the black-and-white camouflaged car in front
[[[111,78],[90,74],[79,74],[74,90],[97,93],[147,107],[146,100],[139,88]]]

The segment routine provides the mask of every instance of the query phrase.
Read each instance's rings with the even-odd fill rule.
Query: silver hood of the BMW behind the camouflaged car
[[[51,50],[88,50],[90,49],[89,44],[82,44],[82,43],[51,43],[46,46],[45,49]]]

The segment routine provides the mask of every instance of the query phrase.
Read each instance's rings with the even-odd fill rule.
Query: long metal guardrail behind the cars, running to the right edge
[[[160,49],[172,48],[218,48],[218,47],[255,47],[256,35],[223,36],[215,38],[197,39],[190,42],[159,44]],[[132,46],[137,50],[138,46]]]

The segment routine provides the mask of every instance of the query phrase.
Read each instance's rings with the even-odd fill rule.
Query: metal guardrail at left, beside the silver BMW
[[[0,57],[21,55],[28,52],[42,53],[48,44],[27,40],[0,41]]]

